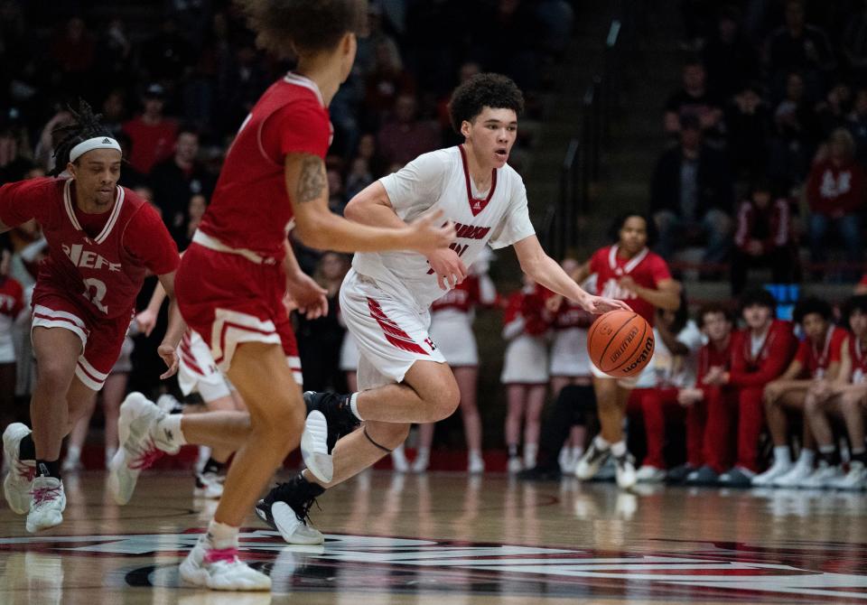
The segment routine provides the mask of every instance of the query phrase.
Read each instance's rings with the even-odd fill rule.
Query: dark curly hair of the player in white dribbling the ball
[[[468,79],[452,93],[449,118],[452,128],[461,134],[461,124],[472,122],[485,107],[512,109],[517,116],[524,111],[524,94],[517,84],[499,73],[480,73]]]

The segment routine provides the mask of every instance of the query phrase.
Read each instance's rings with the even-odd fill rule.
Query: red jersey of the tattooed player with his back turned
[[[281,259],[293,218],[287,154],[325,157],[331,122],[319,88],[288,74],[268,88],[238,130],[199,228],[228,247]]]

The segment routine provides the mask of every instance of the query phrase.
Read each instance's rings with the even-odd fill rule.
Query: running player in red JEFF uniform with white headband
[[[117,185],[120,145],[90,107],[56,134],[60,178],[0,187],[0,233],[30,220],[42,226],[49,257],[33,291],[33,352],[39,368],[31,401],[33,430],[10,424],[3,434],[11,462],[6,501],[27,514],[27,531],[60,525],[66,495],[61,442],[89,407],[115,365],[135,296],[151,271],[174,296],[178,249],[159,215]],[[175,315],[160,352],[177,368],[173,349],[183,332]]]

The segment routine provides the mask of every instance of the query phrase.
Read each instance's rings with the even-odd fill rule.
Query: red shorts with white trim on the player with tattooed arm
[[[181,259],[174,291],[184,321],[208,344],[220,370],[228,370],[238,344],[273,342],[283,347],[295,382],[302,383],[279,263],[256,263],[193,243]]]

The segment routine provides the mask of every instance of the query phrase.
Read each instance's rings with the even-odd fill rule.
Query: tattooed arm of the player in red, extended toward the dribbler
[[[307,246],[337,252],[415,250],[425,254],[452,243],[454,228],[439,225],[442,213],[392,228],[359,225],[334,214],[328,208],[325,163],[318,155],[288,154],[284,172],[296,233]]]

